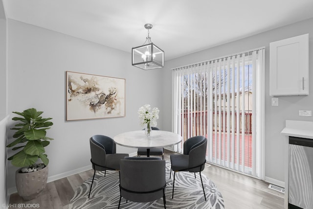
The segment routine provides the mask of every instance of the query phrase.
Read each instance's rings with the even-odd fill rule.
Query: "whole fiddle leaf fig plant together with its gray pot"
[[[20,150],[8,160],[14,166],[21,167],[16,171],[15,181],[19,195],[24,200],[38,197],[45,188],[48,177],[49,160],[45,154],[45,146],[49,145],[52,138],[46,137],[46,130],[53,125],[51,117],[43,118],[43,112],[35,108],[24,110],[22,113],[13,112],[20,117],[12,120],[19,121],[11,130],[16,130],[15,140],[6,147]]]

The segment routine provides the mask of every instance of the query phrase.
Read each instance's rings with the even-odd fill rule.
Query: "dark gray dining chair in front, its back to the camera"
[[[140,170],[140,172],[138,172]],[[120,198],[146,203],[163,197],[165,200],[165,161],[157,157],[126,157],[120,162]]]

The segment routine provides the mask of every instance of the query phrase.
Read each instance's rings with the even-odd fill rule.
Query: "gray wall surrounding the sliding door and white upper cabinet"
[[[310,71],[313,69],[313,19],[294,23],[265,33],[247,37],[221,46],[209,48],[166,62],[164,69],[164,111],[162,114],[165,127],[171,126],[171,68],[191,63],[214,59],[261,46],[265,46],[265,174],[269,182],[284,182],[284,138],[280,132],[285,127],[285,120],[309,120],[312,117],[298,116],[298,110],[313,110],[313,84],[310,85],[310,95],[279,96],[279,106],[271,106],[269,96],[269,43],[293,36],[310,33]],[[196,37],[195,37],[196,38]],[[310,72],[310,80],[313,73]]]

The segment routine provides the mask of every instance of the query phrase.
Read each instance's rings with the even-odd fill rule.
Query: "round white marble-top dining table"
[[[147,137],[144,130],[130,131],[116,135],[113,140],[116,144],[132,148],[146,148],[147,157],[150,149],[175,145],[181,142],[182,137],[169,131],[152,130],[151,136]]]

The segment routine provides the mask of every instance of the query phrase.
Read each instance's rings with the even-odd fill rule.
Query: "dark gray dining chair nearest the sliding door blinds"
[[[173,180],[173,193],[174,196],[174,185],[175,185],[175,174],[179,171],[189,171],[195,173],[199,172],[201,178],[201,184],[204,194],[204,199],[206,201],[205,191],[203,187],[201,171],[204,169],[205,154],[206,154],[206,144],[207,139],[202,136],[192,137],[187,139],[183,144],[183,155],[181,154],[171,154],[171,169],[174,171]],[[170,172],[170,178],[171,178]]]

